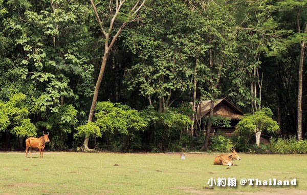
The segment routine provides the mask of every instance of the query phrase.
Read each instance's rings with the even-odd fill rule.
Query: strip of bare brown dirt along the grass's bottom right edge
[[[176,187],[174,189],[180,189],[185,193],[190,193],[190,194],[199,194],[199,195],[213,195],[213,194],[221,194],[221,191],[214,191],[214,189],[196,189],[193,187]],[[225,191],[226,192],[226,191]],[[256,191],[256,192],[246,192],[246,191],[231,191],[231,194],[236,194],[236,195],[305,195],[307,194],[307,190],[300,190],[300,189],[287,189],[287,188],[266,188],[264,191]]]

